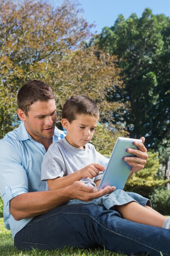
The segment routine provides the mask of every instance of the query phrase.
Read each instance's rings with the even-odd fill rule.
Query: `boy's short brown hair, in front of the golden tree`
[[[86,95],[74,95],[66,101],[62,110],[62,118],[69,123],[77,118],[77,115],[86,114],[99,118],[99,110],[95,101]]]

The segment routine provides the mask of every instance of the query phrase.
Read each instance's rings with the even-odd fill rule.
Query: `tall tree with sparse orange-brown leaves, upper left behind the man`
[[[75,3],[54,9],[46,1],[0,0],[0,137],[18,122],[15,94],[26,80],[44,78],[53,57],[61,60],[89,36]]]

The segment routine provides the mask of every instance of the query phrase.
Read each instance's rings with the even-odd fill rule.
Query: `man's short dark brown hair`
[[[39,80],[24,83],[17,95],[18,108],[22,109],[25,115],[36,101],[49,101],[50,99],[54,99],[51,87]]]

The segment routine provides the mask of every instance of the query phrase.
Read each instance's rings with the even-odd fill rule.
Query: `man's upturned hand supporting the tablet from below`
[[[91,200],[95,198],[99,198],[100,196],[110,194],[115,190],[115,186],[106,186],[104,189],[101,189],[98,191],[97,188],[93,186],[86,186],[84,182],[81,181],[75,181],[70,186],[70,197],[72,199],[78,199],[86,202],[90,202]]]

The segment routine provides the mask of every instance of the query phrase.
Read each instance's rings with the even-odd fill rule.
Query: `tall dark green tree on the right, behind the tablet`
[[[130,137],[146,136],[146,146],[157,149],[170,134],[170,18],[153,15],[145,9],[141,18],[132,14],[127,20],[119,15],[113,27],[95,36],[96,44],[118,56],[124,90],[108,95],[110,101],[130,101],[124,122]]]

